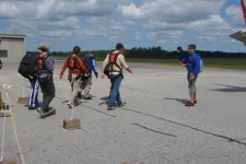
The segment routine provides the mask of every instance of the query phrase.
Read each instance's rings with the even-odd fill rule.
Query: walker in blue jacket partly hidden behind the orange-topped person
[[[89,70],[90,74],[92,74],[92,71],[93,71],[97,79],[98,72],[96,71],[94,55],[92,52],[84,55],[83,62],[84,62],[84,66],[86,67],[86,69]],[[92,75],[84,77],[82,74],[81,80],[82,80],[81,90],[84,90],[84,99],[92,99],[92,97],[89,95],[89,93],[91,91],[91,86],[92,86]]]

